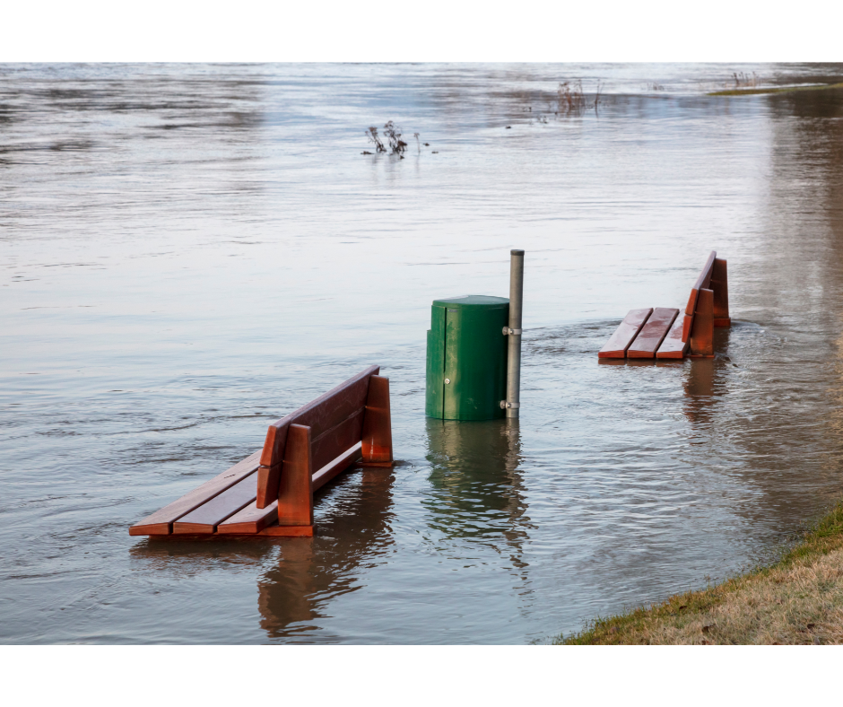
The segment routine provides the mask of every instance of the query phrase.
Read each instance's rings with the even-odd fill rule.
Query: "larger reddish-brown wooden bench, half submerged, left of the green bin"
[[[129,528],[150,537],[313,535],[313,493],[351,466],[392,467],[389,379],[369,366],[269,425],[262,450]]]

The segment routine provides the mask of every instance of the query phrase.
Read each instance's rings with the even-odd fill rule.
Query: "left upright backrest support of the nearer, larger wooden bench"
[[[313,459],[310,428],[291,424],[287,431],[278,486],[278,525],[313,525]]]

